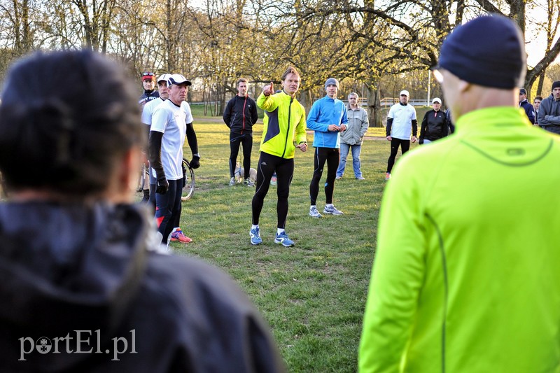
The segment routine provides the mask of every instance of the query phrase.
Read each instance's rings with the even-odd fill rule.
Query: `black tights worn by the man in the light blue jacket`
[[[316,204],[319,194],[319,181],[323,176],[323,167],[327,164],[327,180],[325,181],[326,203],[332,204],[332,194],[335,192],[335,179],[340,162],[340,151],[338,148],[315,148],[314,170],[311,184],[309,184],[309,198],[311,205]]]

